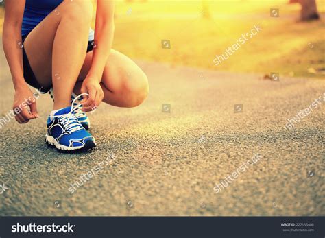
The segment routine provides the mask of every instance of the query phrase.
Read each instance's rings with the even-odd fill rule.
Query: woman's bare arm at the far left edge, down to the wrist
[[[5,20],[3,22],[3,50],[7,58],[14,88],[27,85],[23,77],[23,51],[20,49],[21,25],[25,0],[5,1]]]

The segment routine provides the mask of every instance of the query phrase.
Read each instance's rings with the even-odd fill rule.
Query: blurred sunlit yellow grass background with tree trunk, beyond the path
[[[134,59],[171,65],[324,78],[324,10],[324,0],[117,1],[113,47]],[[0,17],[2,24],[2,8]],[[263,34],[215,66],[215,56],[254,25]]]

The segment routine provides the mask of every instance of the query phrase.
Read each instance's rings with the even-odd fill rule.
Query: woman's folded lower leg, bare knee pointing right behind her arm
[[[82,80],[91,68],[92,58],[93,52],[88,52],[73,90],[76,94],[80,94]],[[130,58],[114,49],[108,56],[101,80],[101,88],[105,94],[104,102],[112,106],[127,108],[141,104],[149,91],[145,73]]]

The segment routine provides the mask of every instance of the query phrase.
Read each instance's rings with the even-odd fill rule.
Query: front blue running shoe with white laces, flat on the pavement
[[[94,137],[82,126],[73,114],[75,108],[68,106],[47,119],[45,141],[58,150],[75,152],[88,150],[96,146]]]

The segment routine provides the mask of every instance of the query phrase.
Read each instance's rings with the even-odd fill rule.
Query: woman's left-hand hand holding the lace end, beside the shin
[[[27,84],[16,88],[12,109],[14,110],[15,119],[19,123],[27,123],[30,119],[38,117],[36,98]]]

